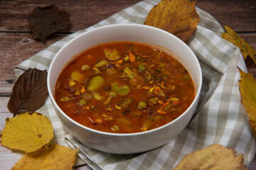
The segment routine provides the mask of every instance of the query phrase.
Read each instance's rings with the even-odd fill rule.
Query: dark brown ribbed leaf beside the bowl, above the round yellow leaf
[[[14,115],[36,111],[47,95],[47,71],[30,68],[15,82],[7,107]]]

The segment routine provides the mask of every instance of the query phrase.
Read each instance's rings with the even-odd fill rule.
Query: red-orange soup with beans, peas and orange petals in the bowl
[[[137,42],[111,42],[67,64],[55,86],[55,101],[89,128],[132,133],[178,118],[195,93],[186,68],[168,53]]]

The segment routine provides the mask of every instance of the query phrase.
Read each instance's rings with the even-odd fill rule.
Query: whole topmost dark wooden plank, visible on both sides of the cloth
[[[63,31],[74,32],[98,23],[113,13],[121,11],[140,0],[130,1],[54,1],[58,8],[69,14],[70,27]],[[0,1],[0,31],[28,32],[27,18],[37,6],[48,6],[46,1]],[[214,16],[222,26],[230,26],[236,31],[255,31],[256,6],[255,0],[198,0],[196,6]],[[250,16],[250,17],[248,17]]]

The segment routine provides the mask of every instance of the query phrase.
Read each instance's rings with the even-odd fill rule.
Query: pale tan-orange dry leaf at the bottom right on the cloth
[[[197,152],[187,154],[175,167],[178,169],[247,169],[243,164],[242,154],[235,154],[233,149],[215,144]]]

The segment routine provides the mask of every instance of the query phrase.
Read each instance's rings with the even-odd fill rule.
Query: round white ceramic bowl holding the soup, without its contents
[[[129,134],[93,130],[69,118],[58,107],[54,99],[55,84],[61,70],[75,55],[80,54],[92,46],[113,41],[142,42],[160,47],[166,52],[175,54],[177,60],[190,72],[196,86],[196,98],[191,103],[191,106],[171,123],[154,130]],[[202,74],[196,55],[194,55],[192,50],[183,41],[171,35],[171,33],[167,33],[159,28],[139,24],[114,24],[89,30],[77,38],[70,40],[53,58],[48,69],[47,81],[50,99],[64,128],[70,132],[70,135],[73,135],[73,137],[88,147],[103,152],[131,154],[160,147],[171,141],[171,139],[186,128],[198,103],[202,85]]]

